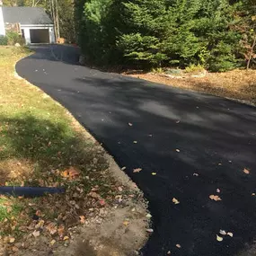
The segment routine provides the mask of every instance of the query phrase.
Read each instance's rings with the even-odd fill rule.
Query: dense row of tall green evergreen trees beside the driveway
[[[200,65],[211,71],[243,63],[242,33],[235,29],[244,19],[239,8],[243,16],[248,15],[242,0],[78,2],[78,39],[90,62],[139,67]]]

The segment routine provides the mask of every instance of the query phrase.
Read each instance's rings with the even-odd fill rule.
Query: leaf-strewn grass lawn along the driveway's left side
[[[0,186],[64,186],[66,193],[0,196],[0,251],[39,235],[68,243],[70,227],[108,204],[118,186],[102,147],[57,102],[14,77],[15,62],[28,54],[0,48]]]

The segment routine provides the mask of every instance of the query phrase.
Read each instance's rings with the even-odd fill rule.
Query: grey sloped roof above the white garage
[[[40,7],[2,7],[4,22],[22,25],[52,24],[49,15]]]

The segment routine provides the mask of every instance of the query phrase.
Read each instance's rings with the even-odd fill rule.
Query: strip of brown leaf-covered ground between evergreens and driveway
[[[256,105],[256,70],[237,69],[225,73],[208,73],[205,77],[185,78],[171,78],[159,74],[136,72],[131,76]]]

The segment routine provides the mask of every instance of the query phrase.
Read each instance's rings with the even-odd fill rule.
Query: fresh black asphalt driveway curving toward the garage
[[[256,255],[255,108],[79,66],[71,47],[35,50],[17,73],[66,106],[149,200],[143,255]],[[217,242],[220,229],[234,236]]]

